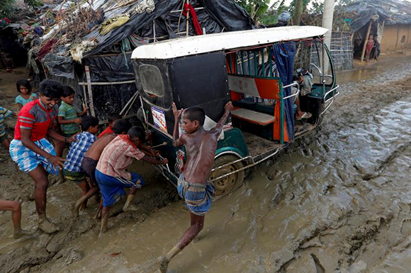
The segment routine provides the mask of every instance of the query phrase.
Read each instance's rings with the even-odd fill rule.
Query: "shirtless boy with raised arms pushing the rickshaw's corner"
[[[211,195],[215,192],[213,184],[207,180],[214,165],[217,139],[228,115],[230,115],[232,103],[227,103],[224,110],[223,117],[215,127],[210,131],[205,131],[203,128],[205,113],[202,108],[192,107],[185,111],[183,109],[177,110],[173,103],[173,145],[174,147],[185,145],[187,153],[187,162],[180,175],[177,190],[184,198],[186,207],[190,211],[191,226],[180,238],[179,243],[167,255],[160,257],[159,271],[162,273],[167,272],[171,259],[191,243],[191,240],[203,229],[204,216],[210,210]],[[183,112],[183,128],[186,133],[179,137],[179,120]]]

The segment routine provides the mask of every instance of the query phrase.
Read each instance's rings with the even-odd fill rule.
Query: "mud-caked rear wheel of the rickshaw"
[[[219,166],[225,165],[232,161],[237,161],[238,159],[240,158],[233,155],[220,156],[215,159],[213,168],[218,168]],[[242,162],[227,165],[224,168],[213,171],[213,173],[210,174],[210,180],[218,178],[221,175],[232,173],[235,170],[240,170],[240,168],[243,167],[244,165],[242,164]],[[214,181],[213,184],[215,187],[215,197],[223,197],[230,192],[237,190],[237,188],[242,185],[242,182],[244,182],[244,170],[240,170],[240,172],[232,173],[231,175],[227,175],[225,178]]]

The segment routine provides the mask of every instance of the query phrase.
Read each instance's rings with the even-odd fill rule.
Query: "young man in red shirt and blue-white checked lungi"
[[[57,81],[44,80],[40,83],[40,98],[21,108],[18,113],[14,139],[10,143],[10,155],[18,168],[28,173],[35,182],[35,207],[38,212],[38,226],[45,233],[58,231],[55,224],[47,220],[47,173],[58,175],[64,159],[56,156],[55,149],[46,139],[50,136],[58,141],[72,142],[52,129],[57,117],[57,101],[62,95],[62,86]]]

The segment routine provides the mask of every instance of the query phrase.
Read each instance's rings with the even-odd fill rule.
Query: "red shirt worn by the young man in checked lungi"
[[[30,101],[18,112],[14,139],[21,140],[21,129],[31,130],[31,141],[38,141],[47,135],[48,128],[57,117],[59,106],[56,104],[51,110],[47,110],[40,100]]]

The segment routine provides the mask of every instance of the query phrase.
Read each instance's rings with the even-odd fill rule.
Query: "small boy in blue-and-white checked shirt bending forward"
[[[74,136],[77,141],[70,146],[63,166],[65,178],[75,182],[82,190],[81,198],[74,204],[72,209],[75,217],[79,216],[81,205],[85,204],[87,199],[98,192],[98,187],[93,182],[91,182],[90,188],[86,180],[86,173],[81,170],[81,161],[83,161],[84,154],[97,139],[95,134],[98,132],[98,118],[93,116],[83,117],[81,119],[81,131],[80,134]]]

